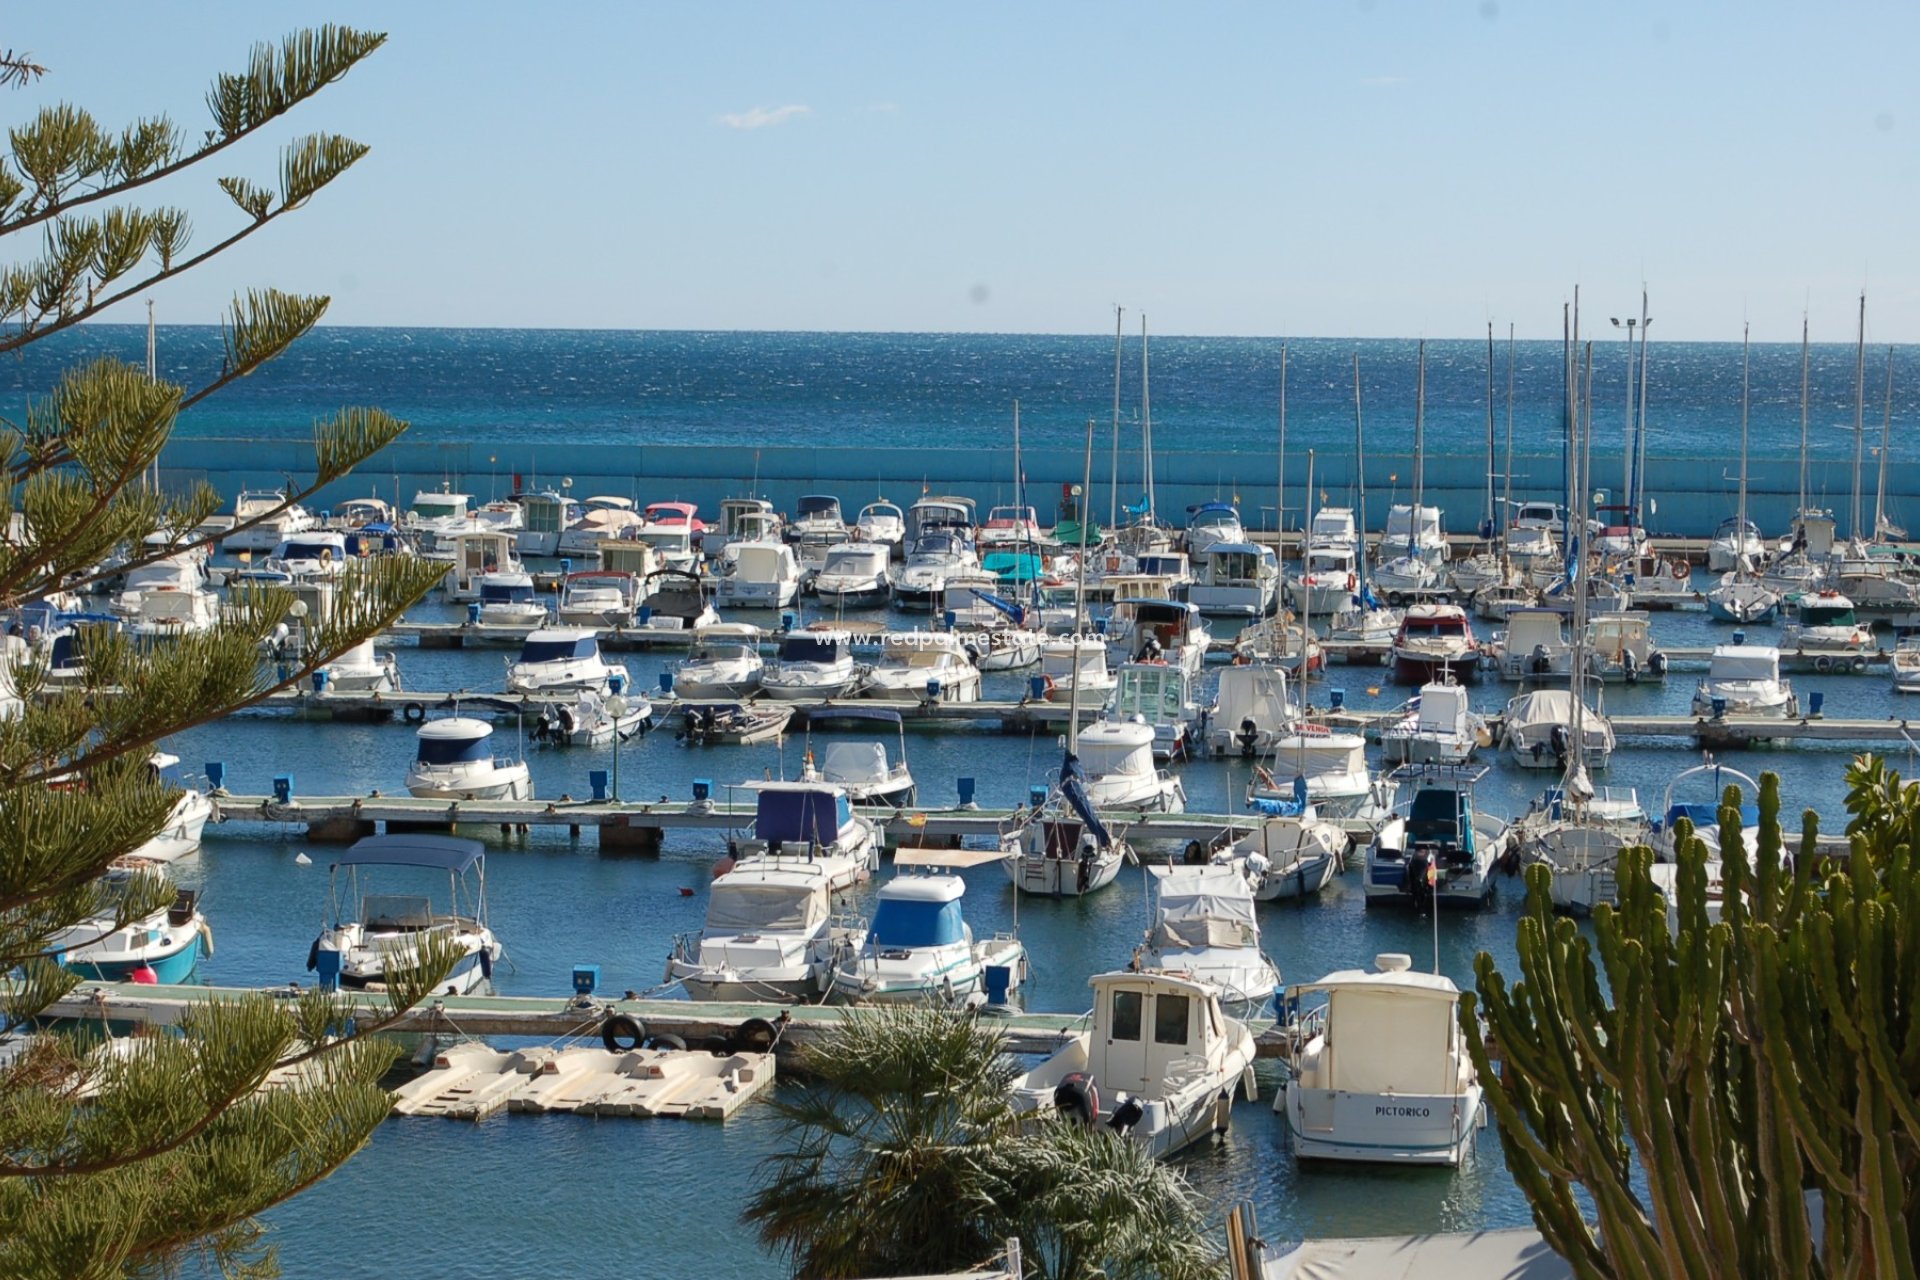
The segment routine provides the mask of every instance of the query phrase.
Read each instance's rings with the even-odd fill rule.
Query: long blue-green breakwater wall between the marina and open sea
[[[1711,441],[1703,441],[1711,445]],[[1164,520],[1179,520],[1187,507],[1208,501],[1236,501],[1248,528],[1271,530],[1277,476],[1275,453],[1204,453],[1156,451],[1154,493]],[[1317,453],[1313,487],[1323,505],[1352,505],[1356,493],[1356,464],[1352,453]],[[1062,486],[1079,484],[1083,459],[1069,449],[1029,449],[1023,455],[1027,501],[1039,510],[1041,524],[1052,524],[1060,505]],[[1655,533],[1674,537],[1705,537],[1715,524],[1736,510],[1738,453],[1716,457],[1655,457],[1647,459],[1647,495],[1655,507],[1647,526]],[[1594,455],[1596,489],[1620,493],[1620,457]],[[161,482],[169,487],[207,482],[232,497],[240,489],[278,487],[288,476],[296,482],[311,478],[311,445],[288,439],[173,439],[161,457]],[[1112,507],[1112,455],[1094,453],[1092,512],[1106,522]],[[1286,457],[1286,528],[1302,526],[1306,505],[1308,455],[1304,449]],[[513,447],[499,443],[463,443],[401,439],[367,462],[349,480],[328,486],[319,505],[338,503],[369,493],[388,501],[407,503],[419,489],[472,493],[478,501],[503,497],[513,489],[515,476],[526,487],[561,487],[572,480],[570,493],[612,493],[639,503],[676,499],[697,503],[703,514],[718,510],[722,497],[758,495],[776,509],[791,512],[803,493],[833,493],[841,499],[847,518],[874,497],[887,497],[902,509],[922,493],[958,493],[973,497],[981,512],[993,503],[1014,501],[1012,449],[943,449],[943,447],[804,447],[768,445],[760,449],[733,445],[574,445]],[[1142,495],[1140,453],[1119,453],[1119,503],[1135,503]],[[1862,476],[1866,497],[1864,520],[1872,522],[1876,461],[1868,457]],[[1405,503],[1413,484],[1413,459],[1396,453],[1367,457],[1367,528],[1386,524],[1386,509]],[[1496,489],[1503,476],[1496,478]],[[1557,453],[1513,459],[1513,499],[1557,501],[1563,495],[1563,466]],[[1809,468],[1807,491],[1816,507],[1828,507],[1847,533],[1849,495],[1853,487],[1851,461],[1816,459]],[[1471,533],[1486,507],[1486,464],[1478,457],[1428,457],[1425,493],[1430,505],[1446,512],[1450,532]],[[1887,468],[1887,516],[1908,524],[1903,516],[1920,495],[1920,464],[1893,462]],[[1609,497],[1607,501],[1615,501]],[[1753,459],[1749,464],[1749,514],[1768,533],[1788,528],[1799,505],[1797,459]]]

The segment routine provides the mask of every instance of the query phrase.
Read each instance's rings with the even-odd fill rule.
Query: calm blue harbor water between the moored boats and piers
[[[444,606],[426,610],[434,614],[451,616]],[[904,626],[904,620],[895,624]],[[1659,614],[1655,629],[1667,645],[1726,637],[1726,628],[1688,612]],[[1753,629],[1755,639],[1768,633]],[[397,654],[415,689],[492,691],[503,683],[501,651],[399,649]],[[636,683],[651,689],[670,656],[628,654],[626,662]],[[1384,708],[1407,693],[1384,677],[1379,668],[1332,668],[1329,683],[1342,687],[1354,706]],[[987,697],[1016,697],[1020,683],[1018,674],[991,676]],[[1665,685],[1609,687],[1605,704],[1619,712],[1680,712],[1693,683],[1695,676],[1676,672]],[[1891,699],[1884,676],[1807,676],[1795,677],[1795,687],[1803,699],[1824,691],[1832,716],[1882,716]],[[1478,708],[1492,710],[1513,693],[1513,685],[1486,681],[1473,699]],[[513,739],[513,723],[503,723],[495,741]],[[394,793],[411,760],[413,733],[401,723],[248,716],[182,735],[173,748],[188,768],[225,762],[228,787],[238,793],[263,793],[276,773],[294,775],[296,791],[305,794]],[[626,747],[622,794],[630,800],[684,798],[697,777],[726,787],[793,775],[803,750],[799,737],[781,747],[687,748],[668,729]],[[897,741],[889,743],[891,750]],[[958,777],[977,779],[983,806],[1018,804],[1029,783],[1044,781],[1060,754],[1052,735],[995,731],[908,731],[906,750],[922,802],[929,806],[954,802]],[[611,748],[530,750],[528,760],[538,794],[586,794],[588,771],[609,768]],[[1847,760],[1849,752],[1836,748],[1782,748],[1728,764],[1755,775],[1763,768],[1778,770],[1788,808],[1820,808],[1834,827]],[[1653,808],[1686,764],[1686,750],[1626,745],[1597,781],[1636,787]],[[1246,783],[1244,770],[1225,762],[1192,762],[1179,770],[1192,810],[1231,812],[1231,796]],[[1478,800],[1511,816],[1549,779],[1546,771],[1517,770],[1492,756]],[[603,858],[591,835],[568,841],[563,833],[540,831],[518,839],[501,839],[492,829],[474,833],[492,848],[493,925],[511,956],[497,984],[509,994],[555,998],[566,992],[574,963],[599,963],[603,988],[657,984],[674,935],[701,927],[705,883],[724,850],[718,833],[674,833],[659,858]],[[300,852],[313,864],[298,865]],[[219,944],[202,977],[223,984],[303,981],[307,944],[326,906],[326,862],[328,846],[309,844],[303,833],[238,821],[209,831],[204,852],[179,867],[182,881],[205,889]],[[1123,965],[1146,927],[1144,873],[1139,869],[1127,869],[1112,889],[1075,902],[1016,904],[998,867],[966,877],[966,913],[973,929],[1018,927],[1031,948],[1035,975],[1025,996],[1033,1009],[1083,1011],[1087,975]],[[695,892],[684,896],[682,889]],[[1471,986],[1473,960],[1482,950],[1509,973],[1517,969],[1519,896],[1519,883],[1507,881],[1490,910],[1442,915],[1436,948],[1432,919],[1367,912],[1359,871],[1350,869],[1319,900],[1263,906],[1263,944],[1288,981],[1367,965],[1379,952],[1400,950],[1423,967],[1438,961],[1442,973]],[[860,890],[852,906],[870,898],[872,889]],[[1179,1167],[1212,1205],[1254,1201],[1269,1240],[1473,1230],[1528,1221],[1501,1163],[1496,1128],[1480,1136],[1475,1159],[1459,1173],[1300,1169],[1286,1150],[1284,1125],[1269,1109],[1279,1071],[1267,1063],[1260,1075],[1261,1100],[1242,1102],[1233,1132],[1188,1153]],[[778,1126],[764,1107],[753,1105],[728,1125],[520,1115],[480,1125],[392,1121],[340,1174],[275,1211],[271,1221],[286,1274],[296,1278],[392,1274],[392,1249],[332,1247],[342,1221],[365,1222],[374,1203],[407,1222],[405,1255],[413,1263],[447,1259],[447,1274],[559,1267],[570,1276],[609,1278],[776,1276],[778,1259],[764,1255],[737,1224],[758,1161],[776,1142]],[[474,1196],[486,1197],[486,1213],[463,1207]],[[440,1274],[434,1267],[428,1272]]]

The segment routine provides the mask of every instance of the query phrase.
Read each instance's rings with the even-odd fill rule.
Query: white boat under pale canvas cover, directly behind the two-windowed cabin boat
[[[1135,967],[1179,973],[1219,996],[1227,1017],[1261,1017],[1281,971],[1260,950],[1260,919],[1246,875],[1223,865],[1146,867],[1154,919]]]

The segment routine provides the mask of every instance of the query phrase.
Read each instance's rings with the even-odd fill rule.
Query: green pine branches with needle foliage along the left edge
[[[0,154],[0,351],[84,320],[188,271],[305,205],[363,154],[332,134],[286,144],[269,180],[217,178],[242,225],[200,251],[169,207],[129,201],[275,123],[384,42],[346,27],[301,31],[253,50],[213,83],[213,127],[198,146],[165,117],[102,127],[60,104],[8,130]],[[12,56],[10,56],[12,58]],[[6,59],[0,59],[4,63]],[[15,77],[38,67],[21,56]],[[0,84],[8,83],[0,65]],[[123,568],[204,545],[194,533],[221,497],[156,491],[146,474],[182,409],[244,378],[319,322],[324,297],[252,290],[225,322],[225,361],[205,386],[156,382],[115,359],[67,368],[0,422],[0,606],[84,587],[102,560]],[[344,407],[313,428],[313,466],[286,478],[305,501],[394,441],[405,422]],[[273,512],[267,512],[273,514]],[[265,514],[261,518],[267,518]],[[148,756],[173,733],[246,708],[396,622],[442,568],[374,558],[346,568],[338,604],[307,628],[301,656],[269,664],[265,645],[292,595],[236,589],[205,633],[142,647],[84,628],[84,674],[52,683],[23,639],[0,666],[25,710],[0,720],[0,1034],[77,986],[56,938],[96,913],[131,923],[173,898],[161,877],[104,887],[108,867],[167,823],[177,793]],[[324,992],[204,1004],[180,1027],[109,1042],[102,1025],[38,1032],[0,1067],[0,1274],[146,1276],[205,1267],[275,1274],[257,1215],[324,1178],[388,1115],[392,1044],[372,1032],[430,996],[453,967],[444,940],[390,965],[384,1009]]]

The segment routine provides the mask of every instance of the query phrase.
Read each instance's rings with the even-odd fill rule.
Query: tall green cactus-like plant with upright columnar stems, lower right
[[[1521,979],[1482,952],[1461,1004],[1507,1167],[1582,1280],[1914,1276],[1920,791],[1855,760],[1845,864],[1809,810],[1788,865],[1764,773],[1749,865],[1740,800],[1722,885],[1680,821],[1672,902],[1628,850],[1592,942],[1528,869]]]

